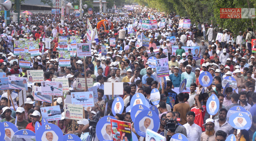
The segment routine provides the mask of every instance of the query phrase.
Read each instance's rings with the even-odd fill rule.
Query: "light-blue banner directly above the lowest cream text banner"
[[[93,107],[93,92],[72,92],[72,104],[83,105],[84,107]]]

